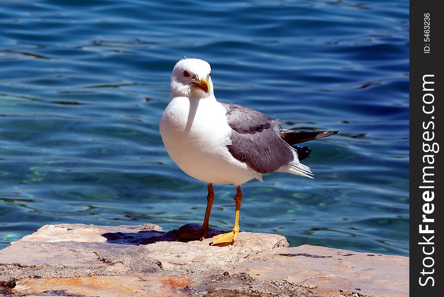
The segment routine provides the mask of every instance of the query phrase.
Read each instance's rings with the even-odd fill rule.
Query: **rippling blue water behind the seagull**
[[[44,224],[201,223],[206,185],[159,134],[175,62],[309,144],[316,178],[243,186],[243,231],[408,254],[408,1],[0,2],[0,247]],[[307,144],[308,145],[308,144]],[[230,229],[232,186],[210,224]]]

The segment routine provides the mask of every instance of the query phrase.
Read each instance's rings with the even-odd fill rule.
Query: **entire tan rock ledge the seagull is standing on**
[[[0,250],[0,295],[408,296],[408,257],[288,248],[263,233],[241,232],[232,246],[210,242],[178,242],[152,224],[46,225]]]

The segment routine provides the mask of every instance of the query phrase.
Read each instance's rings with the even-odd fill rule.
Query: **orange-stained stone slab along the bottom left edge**
[[[40,294],[64,291],[63,295],[77,294],[91,297],[185,297],[190,295],[184,291],[184,288],[194,284],[186,277],[150,277],[145,275],[23,279],[17,282],[12,293]]]

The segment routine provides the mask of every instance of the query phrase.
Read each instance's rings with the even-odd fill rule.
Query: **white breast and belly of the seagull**
[[[180,169],[207,183],[241,185],[261,179],[226,148],[231,128],[225,113],[214,97],[171,99],[160,122],[166,150]]]

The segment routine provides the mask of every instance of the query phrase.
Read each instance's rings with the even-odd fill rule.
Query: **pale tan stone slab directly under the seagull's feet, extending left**
[[[0,283],[28,277],[217,272],[249,255],[288,247],[283,236],[249,232],[241,232],[232,246],[212,247],[210,242],[177,242],[151,224],[47,225],[0,250]]]

